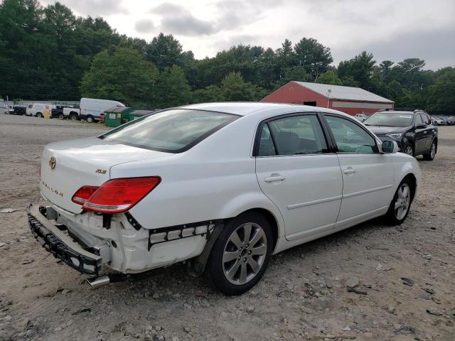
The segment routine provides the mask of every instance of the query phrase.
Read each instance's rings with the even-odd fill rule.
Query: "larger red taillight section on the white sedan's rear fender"
[[[85,200],[82,209],[99,213],[125,212],[149,194],[160,181],[161,178],[157,176],[109,180]]]

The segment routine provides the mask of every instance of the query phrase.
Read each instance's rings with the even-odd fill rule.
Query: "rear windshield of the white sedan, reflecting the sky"
[[[155,151],[181,153],[237,118],[237,115],[220,112],[170,109],[135,119],[103,134],[100,139]]]

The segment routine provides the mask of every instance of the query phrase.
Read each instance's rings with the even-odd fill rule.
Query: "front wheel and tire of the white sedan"
[[[412,184],[409,179],[402,180],[390,202],[389,210],[385,214],[385,220],[390,225],[400,225],[406,220],[410,212],[413,195]]]

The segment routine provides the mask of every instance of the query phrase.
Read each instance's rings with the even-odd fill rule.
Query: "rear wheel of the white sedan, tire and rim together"
[[[208,259],[205,274],[218,291],[235,296],[250,290],[264,274],[272,254],[269,222],[257,212],[230,220]]]

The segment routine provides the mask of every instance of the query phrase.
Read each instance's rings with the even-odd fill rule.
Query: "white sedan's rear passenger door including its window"
[[[291,114],[259,126],[257,180],[282,212],[289,240],[331,227],[340,210],[341,170],[321,119],[317,114]]]

